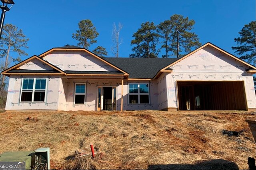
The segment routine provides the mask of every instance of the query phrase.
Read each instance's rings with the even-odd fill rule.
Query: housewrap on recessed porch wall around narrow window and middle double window
[[[74,104],[74,89],[76,83],[86,84],[85,104]],[[150,104],[129,104],[128,100],[128,84],[129,83],[148,83],[150,91]],[[58,110],[97,110],[97,94],[98,87],[116,86],[116,109],[121,110],[122,81],[121,79],[109,80],[62,80],[59,89]],[[123,89],[123,110],[157,110],[157,88],[156,81],[124,81]]]

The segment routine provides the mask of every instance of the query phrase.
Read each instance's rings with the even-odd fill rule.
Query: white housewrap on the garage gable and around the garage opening
[[[158,81],[166,79],[169,108],[178,107],[176,82],[179,80],[244,81],[248,108],[256,108],[253,77],[246,73],[249,67],[212,47],[204,47],[170,68],[173,72],[164,74]],[[159,98],[158,104],[165,101],[165,98]]]

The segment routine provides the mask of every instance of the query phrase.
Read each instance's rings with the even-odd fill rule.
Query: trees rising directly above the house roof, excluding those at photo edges
[[[176,56],[180,58],[181,52],[188,53],[191,48],[198,48],[201,46],[198,35],[191,32],[195,24],[194,20],[189,20],[188,17],[184,18],[182,15],[175,14],[170,17],[170,20],[165,20],[159,25],[153,22],[145,22],[140,25],[137,32],[132,34],[134,38],[131,41],[133,54],[129,57],[145,57],[156,58],[161,50],[164,50],[163,58],[170,56]],[[96,28],[93,26],[90,20],[81,20],[78,24],[79,30],[73,34],[73,38],[78,40],[78,46],[88,48],[90,44],[96,43],[97,36]],[[112,53],[116,57],[119,56],[119,46],[122,44],[122,40],[119,41],[120,30],[122,24],[118,24],[118,28],[114,24],[112,33]],[[161,45],[160,49],[157,46]],[[98,46],[92,52],[99,56],[106,56],[106,48]]]

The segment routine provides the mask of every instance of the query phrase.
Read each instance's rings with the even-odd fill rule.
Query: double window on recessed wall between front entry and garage
[[[129,84],[129,104],[149,104],[148,84]]]

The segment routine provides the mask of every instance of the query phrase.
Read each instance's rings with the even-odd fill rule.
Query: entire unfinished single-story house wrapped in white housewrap
[[[52,48],[2,72],[6,110],[256,110],[256,67],[211,43],[182,58]]]

